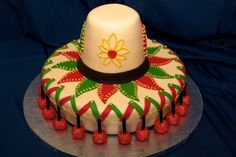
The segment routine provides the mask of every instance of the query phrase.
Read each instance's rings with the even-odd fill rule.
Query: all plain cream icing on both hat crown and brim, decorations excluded
[[[120,73],[129,71],[137,68],[140,64],[143,63],[145,56],[143,52],[143,38],[142,38],[142,28],[141,21],[138,13],[124,5],[120,4],[109,4],[95,8],[92,10],[86,19],[85,26],[85,39],[84,39],[84,51],[80,55],[83,62],[90,68],[103,72],[103,73]],[[102,43],[107,44],[106,40],[109,41],[110,38],[110,47],[114,48],[115,42],[117,40],[119,42],[119,46],[127,48],[128,53],[125,53],[126,60],[121,61],[121,66],[117,67],[116,64],[107,64],[104,66],[104,58],[99,57],[100,49],[99,45]],[[123,41],[123,42],[122,42]],[[58,50],[60,52],[66,51],[77,51],[76,47],[68,43],[68,48],[64,50]],[[157,47],[163,46],[160,43],[153,43],[151,40],[147,41],[148,47]],[[108,45],[109,47],[109,45]],[[170,55],[167,52],[169,49],[161,49],[155,57],[163,57],[163,58],[178,58],[175,55]],[[55,52],[57,53],[57,51]],[[68,59],[63,55],[58,55],[55,57],[51,57],[50,60],[52,64],[45,66],[44,68],[50,68],[47,74],[42,76],[42,79],[51,79],[55,78],[55,81],[49,85],[49,89],[53,87],[58,87],[63,85],[64,89],[60,94],[60,100],[62,98],[75,95],[75,89],[78,85],[77,82],[64,82],[58,84],[60,79],[65,76],[68,72],[67,70],[52,68],[54,65],[68,61]],[[174,76],[176,74],[183,74],[176,67],[182,66],[180,62],[172,61],[168,64],[162,65],[161,68],[166,71],[168,74]],[[105,78],[104,78],[105,79]],[[179,82],[176,78],[168,78],[168,79],[158,79],[153,78],[155,82],[163,88],[164,91],[171,93],[168,84],[174,83],[179,85]],[[44,86],[45,87],[45,86]],[[131,99],[122,94],[119,90],[112,95],[104,104],[97,94],[97,89],[91,90],[89,92],[83,93],[80,96],[76,97],[76,107],[77,109],[81,109],[84,105],[86,105],[90,101],[95,101],[98,107],[98,112],[101,114],[108,104],[112,103],[116,105],[116,107],[124,114],[126,108],[129,105]],[[178,97],[180,91],[176,92]],[[158,96],[158,91],[146,89],[141,86],[138,86],[137,97],[140,101],[136,101],[136,103],[144,109],[144,98],[146,96],[152,97],[160,104],[160,97]],[[176,98],[177,98],[176,97]],[[55,92],[50,95],[50,99],[54,102],[55,105]],[[66,102],[62,107],[62,113],[65,118],[72,124],[76,125],[76,116],[71,105],[71,102]],[[163,108],[163,115],[165,116],[171,108],[171,102],[168,99],[165,99],[165,105]],[[151,104],[150,110],[146,117],[146,126],[152,126],[156,119],[159,118],[158,111],[156,107]],[[86,130],[95,131],[97,130],[97,122],[94,118],[91,109],[85,112],[81,116],[81,122],[85,126]],[[141,119],[138,112],[133,110],[130,117],[127,119],[127,129],[130,132],[134,132],[138,125],[140,125]],[[122,123],[120,119],[117,117],[115,112],[111,111],[106,119],[102,122],[102,128],[107,131],[108,134],[117,134],[120,130],[122,130]]]

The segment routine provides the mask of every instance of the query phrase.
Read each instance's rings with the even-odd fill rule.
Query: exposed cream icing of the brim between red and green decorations
[[[76,51],[76,47],[73,44],[67,44],[68,49],[65,50],[60,50],[60,52],[66,52],[66,51]],[[162,46],[160,43],[153,43],[151,40],[148,40],[148,47],[157,47],[157,46]],[[169,49],[161,49],[160,52],[156,55],[157,57],[163,57],[163,58],[174,58],[176,56],[169,55],[167,52],[170,51]],[[56,53],[56,52],[55,52]],[[56,57],[50,58],[52,60],[52,64],[47,65],[45,68],[51,68],[52,66],[63,62],[67,61],[68,59],[65,56],[59,55]],[[166,65],[161,66],[162,69],[168,72],[170,75],[175,75],[175,74],[182,74],[183,73],[180,70],[177,70],[177,66],[181,66],[181,63],[172,61],[171,63],[168,63]],[[65,76],[69,71],[63,70],[63,69],[52,69],[49,73],[43,76],[42,79],[44,78],[55,78],[56,81],[54,81],[50,86],[50,88],[56,87],[63,85],[65,86],[64,89],[61,92],[60,99],[74,95],[75,94],[75,88],[78,85],[78,82],[65,82],[58,84],[58,81]],[[170,89],[168,88],[168,83],[174,83],[179,85],[178,81],[176,78],[171,78],[171,79],[157,79],[154,78],[155,81],[158,83],[160,87],[162,87],[165,91],[168,93],[170,92]],[[144,98],[145,96],[149,96],[154,98],[157,102],[160,103],[160,98],[158,96],[158,91],[155,90],[149,90],[143,87],[138,86],[138,98],[139,102],[137,102],[142,109],[144,109]],[[177,92],[177,97],[179,95],[179,92]],[[55,103],[55,92],[51,94],[51,100]],[[124,114],[128,103],[130,101],[129,98],[124,96],[120,91],[117,91],[113,96],[111,96],[106,104],[103,104],[103,102],[100,100],[100,98],[97,95],[97,89],[94,89],[90,92],[84,93],[80,95],[79,97],[76,98],[76,105],[78,109],[81,109],[85,104],[87,104],[89,101],[94,100],[98,106],[98,111],[101,114],[106,106],[109,103],[115,104],[119,110]],[[165,107],[164,107],[164,113],[163,115],[165,116],[168,111],[171,109],[171,103],[166,99],[165,102]],[[70,101],[67,102],[62,106],[62,113],[65,115],[66,119],[76,125],[76,116],[75,113],[72,109]],[[156,119],[159,118],[159,114],[154,107],[154,105],[151,105],[149,113],[146,117],[146,126],[152,126],[155,122]],[[96,119],[93,117],[91,110],[89,109],[85,114],[81,116],[81,123],[85,126],[86,130],[89,131],[95,131],[97,130],[97,123]],[[127,129],[130,132],[134,132],[136,130],[136,127],[140,125],[141,119],[139,114],[136,111],[133,111],[130,118],[127,120]],[[107,118],[102,122],[102,128],[106,129],[108,134],[117,134],[120,130],[122,130],[122,123],[121,121],[117,118],[116,114],[111,111]]]

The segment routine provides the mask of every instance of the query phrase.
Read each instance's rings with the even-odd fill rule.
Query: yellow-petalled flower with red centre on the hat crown
[[[121,62],[127,59],[125,55],[129,53],[124,45],[125,41],[123,39],[118,40],[115,33],[112,33],[108,40],[102,39],[102,44],[98,46],[100,49],[98,56],[104,59],[103,65],[113,63],[120,68]]]

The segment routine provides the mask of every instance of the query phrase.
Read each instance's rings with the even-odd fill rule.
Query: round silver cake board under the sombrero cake
[[[188,76],[189,94],[191,104],[188,114],[181,118],[180,124],[170,127],[167,134],[157,134],[152,128],[150,139],[145,142],[137,141],[132,135],[130,145],[120,145],[117,136],[108,136],[105,144],[97,145],[92,141],[92,133],[87,132],[84,139],[75,140],[71,136],[72,126],[68,125],[65,131],[55,131],[53,121],[44,120],[41,110],[37,106],[37,87],[40,85],[39,75],[28,87],[23,102],[23,110],[26,122],[30,129],[42,141],[50,145],[56,151],[62,151],[74,156],[81,157],[137,157],[149,155],[163,155],[173,148],[183,144],[196,129],[203,111],[201,93]]]

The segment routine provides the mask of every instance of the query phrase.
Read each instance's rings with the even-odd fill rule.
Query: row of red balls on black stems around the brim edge
[[[67,121],[61,116],[61,108],[57,105],[57,111],[50,104],[51,101],[48,96],[45,95],[41,86],[38,88],[38,107],[42,110],[42,115],[45,120],[53,120],[53,127],[55,130],[65,130],[67,128]],[[177,103],[172,103],[172,109],[167,114],[166,118],[163,117],[162,109],[159,110],[159,120],[154,124],[154,130],[158,134],[165,134],[169,130],[169,126],[176,126],[180,122],[180,117],[187,114],[190,104],[190,96],[187,94],[187,86],[185,86],[183,92],[181,92]],[[149,139],[150,130],[145,127],[145,116],[142,118],[142,124],[136,129],[136,139],[139,141],[146,141]],[[97,128],[93,135],[92,140],[96,144],[103,144],[107,141],[107,133],[102,130],[102,121],[97,119]],[[73,126],[71,130],[72,137],[74,139],[82,139],[85,136],[85,128],[80,124],[80,116],[77,114],[77,126]],[[118,133],[118,141],[120,144],[130,144],[132,135],[126,130],[126,119],[122,119],[122,131]]]

